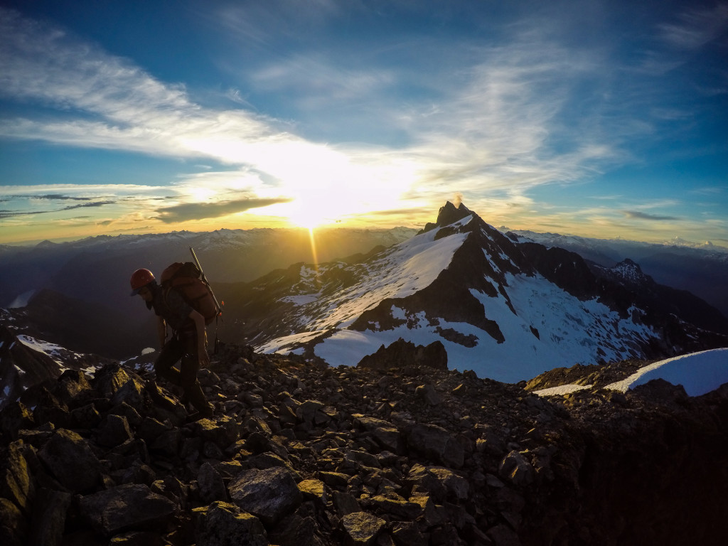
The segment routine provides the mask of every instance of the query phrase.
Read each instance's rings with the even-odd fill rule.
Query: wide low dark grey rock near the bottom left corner
[[[112,537],[122,531],[165,529],[176,506],[146,485],[130,484],[84,496],[79,510],[96,532]]]

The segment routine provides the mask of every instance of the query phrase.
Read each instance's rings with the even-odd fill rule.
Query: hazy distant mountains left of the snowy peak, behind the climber
[[[368,252],[407,240],[414,229],[320,229],[317,259]],[[32,336],[114,358],[156,347],[154,317],[129,297],[129,278],[190,261],[193,247],[210,282],[254,280],[296,261],[314,261],[307,229],[221,229],[209,233],[89,237],[60,244],[0,247],[0,308]]]

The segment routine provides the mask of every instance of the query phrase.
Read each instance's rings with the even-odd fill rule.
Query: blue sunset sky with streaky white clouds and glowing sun
[[[461,199],[728,249],[728,0],[0,0],[0,243]]]

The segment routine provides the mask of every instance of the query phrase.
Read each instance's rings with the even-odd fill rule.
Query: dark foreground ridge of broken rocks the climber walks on
[[[29,387],[0,412],[0,543],[726,543],[726,385],[601,389],[636,362],[505,384],[400,345],[331,368],[227,344],[197,422],[129,364]]]

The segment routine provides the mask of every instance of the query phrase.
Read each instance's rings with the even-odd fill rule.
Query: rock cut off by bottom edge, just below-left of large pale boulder
[[[213,502],[193,510],[197,546],[268,546],[266,530],[258,518],[228,502]]]

